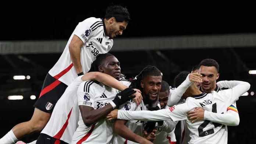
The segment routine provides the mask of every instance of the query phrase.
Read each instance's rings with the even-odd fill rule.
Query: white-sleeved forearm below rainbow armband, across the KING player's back
[[[237,126],[239,124],[239,115],[235,112],[228,112],[225,114],[213,113],[205,111],[204,120],[217,122],[224,125]]]

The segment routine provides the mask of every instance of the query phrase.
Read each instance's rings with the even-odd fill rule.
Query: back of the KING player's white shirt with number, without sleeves
[[[187,98],[186,103],[189,107],[202,107],[206,111],[213,113],[227,113],[227,107],[232,102],[227,101],[227,97],[223,95],[225,92],[215,92],[205,94],[199,97]],[[226,97],[226,98],[223,98]],[[211,143],[211,144],[224,144],[227,143],[228,131],[227,126],[218,124],[211,121],[198,121],[191,123],[186,119],[186,124],[190,131],[189,136],[191,140],[189,143]]]

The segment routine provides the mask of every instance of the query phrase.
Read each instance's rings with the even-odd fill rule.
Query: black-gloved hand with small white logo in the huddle
[[[127,101],[130,101],[131,99],[135,98],[135,94],[136,91],[132,88],[125,88],[123,91],[119,92],[113,102],[115,103],[116,106],[120,106],[122,104],[124,104]]]

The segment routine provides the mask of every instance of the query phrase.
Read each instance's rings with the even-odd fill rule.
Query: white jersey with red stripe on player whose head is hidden
[[[77,89],[83,82],[82,76],[72,82],[53,109],[51,118],[41,133],[45,133],[55,139],[71,143],[72,136],[77,129],[79,120],[79,108],[77,102]]]

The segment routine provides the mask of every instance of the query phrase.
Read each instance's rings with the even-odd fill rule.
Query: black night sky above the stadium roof
[[[98,5],[100,3],[100,5]],[[126,6],[132,21],[122,37],[255,33],[256,10],[212,4],[114,2]],[[101,18],[111,2],[3,3],[0,41],[68,39],[78,22]]]

